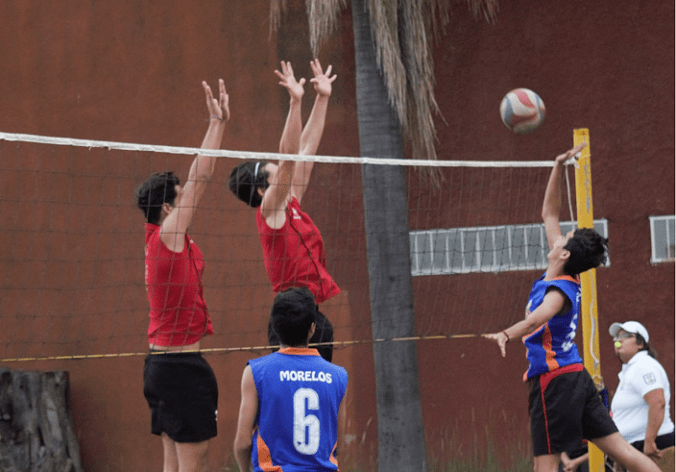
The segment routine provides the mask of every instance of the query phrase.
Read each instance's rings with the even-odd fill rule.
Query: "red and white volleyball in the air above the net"
[[[517,134],[534,131],[545,119],[545,104],[537,93],[525,88],[507,93],[500,103],[500,118]]]

